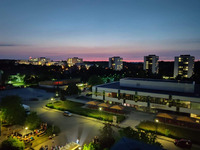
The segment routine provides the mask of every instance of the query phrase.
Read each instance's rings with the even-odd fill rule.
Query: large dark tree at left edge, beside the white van
[[[6,96],[0,103],[2,120],[7,124],[23,124],[26,113],[19,96]]]

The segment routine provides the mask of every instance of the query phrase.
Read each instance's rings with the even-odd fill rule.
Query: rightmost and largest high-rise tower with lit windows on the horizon
[[[180,55],[174,60],[174,78],[177,76],[190,78],[194,70],[194,56]]]

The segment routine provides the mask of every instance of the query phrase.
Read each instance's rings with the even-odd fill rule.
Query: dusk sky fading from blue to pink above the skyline
[[[0,59],[200,59],[200,0],[0,0]]]

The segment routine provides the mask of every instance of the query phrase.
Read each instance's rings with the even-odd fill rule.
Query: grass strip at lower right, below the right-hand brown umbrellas
[[[143,121],[138,126],[139,129],[148,131],[156,131],[159,134],[172,138],[190,139],[194,143],[200,143],[200,130],[173,126],[164,123],[156,123],[151,121]]]

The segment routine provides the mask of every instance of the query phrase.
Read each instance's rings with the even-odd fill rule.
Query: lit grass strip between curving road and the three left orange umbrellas
[[[58,109],[62,111],[68,110],[75,114],[112,122],[114,114],[104,112],[104,111],[99,111],[99,110],[82,108],[83,105],[84,104],[72,102],[72,101],[57,101],[53,104],[48,103],[46,106],[49,108]],[[115,116],[117,116],[118,122],[122,122],[125,119],[124,115],[115,114]]]

